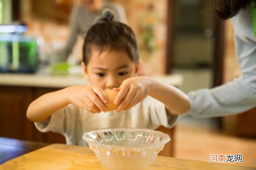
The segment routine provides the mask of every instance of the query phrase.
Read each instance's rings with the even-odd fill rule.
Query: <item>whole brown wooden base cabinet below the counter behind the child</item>
[[[0,136],[47,143],[66,143],[65,137],[58,133],[41,133],[26,116],[29,104],[39,96],[58,88],[40,87],[9,87],[0,86]],[[174,128],[163,126],[158,131],[168,134],[171,138]],[[173,156],[173,139],[159,153],[162,156]]]

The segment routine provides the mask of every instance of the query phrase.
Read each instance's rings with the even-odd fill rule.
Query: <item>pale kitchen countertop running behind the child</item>
[[[156,80],[180,86],[183,82],[182,75],[166,75],[153,77]],[[74,85],[89,85],[82,74],[69,75],[50,75],[47,73],[37,74],[17,74],[17,73],[0,73],[0,85],[2,86],[27,86],[27,87],[51,87],[65,88]]]

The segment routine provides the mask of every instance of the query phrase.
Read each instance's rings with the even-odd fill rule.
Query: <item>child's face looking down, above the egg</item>
[[[103,90],[119,87],[125,79],[136,76],[139,64],[131,61],[126,52],[99,51],[92,49],[85,78]]]

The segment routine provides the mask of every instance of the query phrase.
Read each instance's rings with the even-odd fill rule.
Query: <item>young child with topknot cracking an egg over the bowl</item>
[[[28,107],[27,117],[41,132],[57,132],[68,145],[84,145],[85,132],[102,128],[172,128],[178,115],[190,109],[179,89],[150,77],[136,77],[139,52],[127,25],[106,15],[94,24],[83,46],[88,86],[71,86],[45,94]],[[118,92],[115,111],[107,112],[103,90]],[[104,112],[104,113],[103,113]],[[100,114],[99,114],[100,113]]]

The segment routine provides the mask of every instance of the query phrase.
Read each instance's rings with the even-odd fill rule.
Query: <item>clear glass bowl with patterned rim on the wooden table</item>
[[[101,164],[112,170],[145,169],[171,140],[165,133],[137,128],[90,131],[83,139]]]

